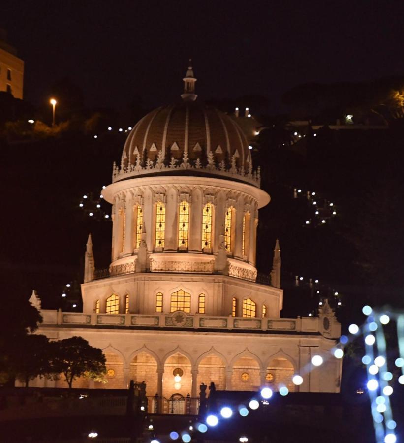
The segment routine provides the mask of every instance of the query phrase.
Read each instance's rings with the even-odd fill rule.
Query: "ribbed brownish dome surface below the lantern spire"
[[[208,153],[219,164],[230,164],[234,156],[237,167],[247,168],[251,162],[248,141],[242,129],[228,115],[194,101],[159,107],[147,114],[127,137],[122,163],[124,167],[155,161],[162,150],[164,163],[171,158],[182,161],[187,154],[190,163],[199,158],[206,163]],[[233,160],[234,160],[233,159]]]

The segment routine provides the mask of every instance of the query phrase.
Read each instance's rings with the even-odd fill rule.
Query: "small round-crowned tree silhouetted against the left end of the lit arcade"
[[[71,389],[73,381],[81,376],[101,381],[106,373],[105,356],[83,337],[71,337],[53,342],[53,372],[62,373]]]

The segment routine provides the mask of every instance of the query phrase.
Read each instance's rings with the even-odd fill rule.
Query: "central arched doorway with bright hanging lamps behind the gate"
[[[191,362],[185,355],[176,352],[164,363],[163,397],[169,399],[174,394],[186,397],[191,394],[191,388]]]

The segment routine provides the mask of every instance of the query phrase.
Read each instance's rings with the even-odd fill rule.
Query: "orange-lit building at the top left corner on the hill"
[[[6,43],[7,33],[0,28],[0,92],[14,98],[23,98],[24,61],[17,57],[15,48]]]

